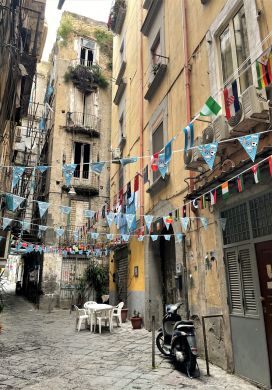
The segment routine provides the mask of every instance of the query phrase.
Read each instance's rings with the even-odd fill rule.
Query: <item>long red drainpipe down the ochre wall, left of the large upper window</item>
[[[181,0],[182,9],[182,30],[183,30],[183,52],[184,52],[184,78],[185,78],[185,97],[186,97],[186,120],[191,121],[191,94],[190,94],[190,73],[189,73],[189,56],[188,56],[188,31],[186,18],[186,0]],[[193,173],[189,171],[190,191],[194,189]],[[188,297],[188,273],[187,273],[187,256],[186,256],[186,239],[183,236],[183,290],[184,290],[184,312],[186,319],[189,319],[189,297]]]

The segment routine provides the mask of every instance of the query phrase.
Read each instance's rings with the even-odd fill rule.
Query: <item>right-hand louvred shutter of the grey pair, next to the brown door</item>
[[[238,252],[243,289],[245,314],[257,314],[256,294],[252,274],[250,247],[239,248]]]

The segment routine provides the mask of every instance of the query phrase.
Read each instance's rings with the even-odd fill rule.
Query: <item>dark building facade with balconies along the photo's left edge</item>
[[[0,5],[0,183],[1,220],[10,217],[6,193],[11,191],[14,143],[17,126],[28,116],[36,65],[40,61],[47,26],[44,21],[46,0],[2,1]],[[17,191],[17,189],[16,189]],[[17,192],[16,192],[17,193]],[[11,232],[1,229],[0,267],[5,267]],[[16,228],[15,228],[16,230]]]

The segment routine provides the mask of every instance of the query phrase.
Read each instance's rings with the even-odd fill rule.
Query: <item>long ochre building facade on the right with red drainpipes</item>
[[[136,213],[128,243],[121,240],[114,249],[111,300],[124,300],[130,315],[140,311],[147,328],[153,315],[159,324],[167,303],[182,301],[201,353],[201,323],[211,316],[205,320],[210,360],[267,388],[272,80],[260,86],[258,59],[268,53],[262,65],[269,67],[271,16],[269,0],[116,0],[109,19],[115,33],[110,207]],[[238,95],[231,113],[225,109],[229,86]],[[199,116],[210,96],[222,110]],[[195,146],[218,143],[212,170],[196,148],[184,152],[183,129],[190,122]],[[256,133],[253,163],[237,137]],[[169,141],[173,152],[163,178],[152,170],[151,157],[154,163]],[[134,156],[134,163],[116,163]],[[225,182],[229,196],[222,196]],[[149,237],[144,215],[154,216],[150,231],[157,240]],[[118,227],[128,231],[125,223]]]

